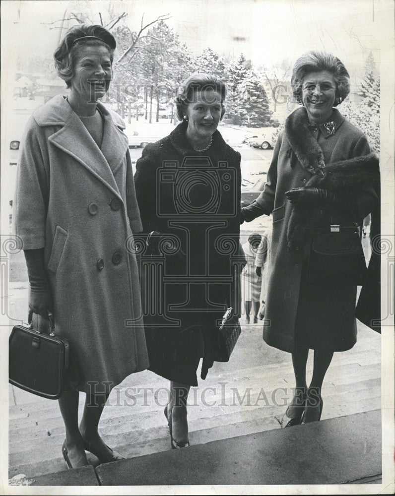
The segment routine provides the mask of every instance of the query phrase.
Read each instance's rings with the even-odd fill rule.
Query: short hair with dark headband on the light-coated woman
[[[75,41],[84,36],[94,36],[94,39]],[[100,38],[99,40],[96,38]],[[97,24],[78,24],[70,28],[61,44],[54,53],[55,67],[59,77],[66,81],[66,86],[71,86],[71,79],[74,75],[75,62],[80,53],[81,47],[104,46],[107,48],[111,63],[114,59],[116,42],[114,36],[103,26]]]

